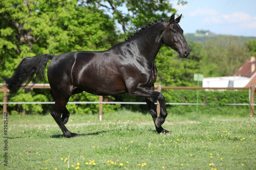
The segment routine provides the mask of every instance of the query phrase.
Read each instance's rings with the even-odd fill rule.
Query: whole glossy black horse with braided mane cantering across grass
[[[69,111],[66,104],[73,94],[86,91],[101,96],[129,93],[131,96],[145,97],[150,114],[158,133],[169,131],[162,128],[167,116],[164,96],[154,90],[157,69],[156,55],[165,44],[188,57],[190,49],[179,26],[181,15],[170,20],[156,20],[137,31],[126,41],[118,43],[106,51],[77,51],[57,56],[44,54],[24,58],[11,78],[2,76],[10,90],[7,98],[17,94],[19,88],[45,78],[47,70],[51,95],[55,99],[51,115],[65,137],[77,137],[64,124],[68,122]],[[26,83],[26,84],[23,84]],[[161,111],[157,117],[154,99],[159,101]],[[61,117],[62,114],[62,117]]]

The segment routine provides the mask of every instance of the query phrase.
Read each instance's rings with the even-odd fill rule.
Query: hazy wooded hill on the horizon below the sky
[[[246,37],[246,36],[234,36],[234,35],[218,35],[218,34],[184,34],[185,38],[187,41],[194,41],[197,43],[205,44],[206,41],[224,41],[226,43],[239,43],[239,44],[244,44],[247,42],[249,39],[256,39],[256,37]]]

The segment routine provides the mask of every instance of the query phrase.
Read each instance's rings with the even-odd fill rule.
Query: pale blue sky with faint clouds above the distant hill
[[[209,30],[215,34],[256,37],[255,0],[188,0],[184,6],[171,1],[177,9],[176,17],[182,14],[179,23],[185,33]]]

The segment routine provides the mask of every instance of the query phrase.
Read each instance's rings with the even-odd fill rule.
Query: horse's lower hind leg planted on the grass
[[[64,122],[61,119],[61,114],[66,108],[67,101],[68,100],[65,100],[65,99],[56,99],[54,107],[51,110],[51,115],[56,121],[56,123],[59,125],[61,131],[63,132],[66,138],[79,137],[77,133],[71,133],[66,128],[66,126],[64,125]]]

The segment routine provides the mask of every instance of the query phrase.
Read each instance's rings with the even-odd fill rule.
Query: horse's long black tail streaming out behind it
[[[54,55],[42,54],[34,57],[25,57],[16,68],[13,76],[8,78],[1,76],[5,80],[4,86],[10,91],[7,94],[7,100],[14,97],[21,87],[27,86],[32,82],[31,87],[39,80],[45,80],[45,67],[48,60]],[[25,83],[25,84],[24,84]]]

